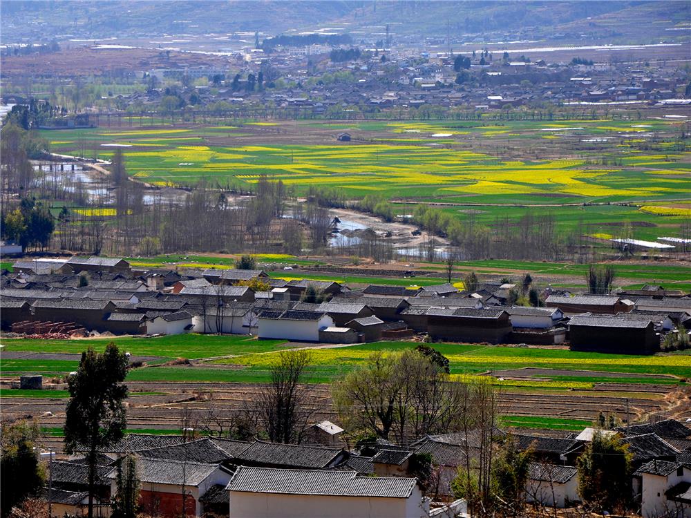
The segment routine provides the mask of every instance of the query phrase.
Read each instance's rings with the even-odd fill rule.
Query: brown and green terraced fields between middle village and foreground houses
[[[170,357],[185,350],[184,340],[195,343],[200,337],[180,336],[177,339],[180,340],[177,345],[167,344]],[[21,341],[26,341],[27,348],[29,345],[39,348],[37,343],[30,344],[28,340],[15,340],[12,347],[15,350],[21,347]],[[66,341],[77,342],[75,347],[79,347],[85,340]],[[139,352],[154,350],[136,349],[133,341],[121,345]],[[261,346],[261,342],[259,344]],[[43,346],[46,347],[46,342]],[[73,346],[70,344],[70,347]],[[160,345],[150,347],[160,352]],[[330,383],[334,379],[366,361],[374,351],[408,347],[413,344],[382,342],[312,349],[307,405],[314,412],[314,419],[335,419],[330,401]],[[498,390],[500,411],[505,416],[503,423],[515,428],[577,430],[595,419],[600,411],[631,420],[669,412],[674,402],[682,401],[688,392],[680,376],[691,375],[691,356],[685,355],[623,357],[564,349],[462,344],[436,344],[435,347],[451,361],[454,378],[491,376]],[[66,348],[68,346],[62,343],[55,347]],[[247,349],[245,354],[193,365],[159,365],[132,370],[127,378],[131,390],[128,428],[177,431],[183,408],[189,410],[199,428],[227,428],[238,412],[242,412],[245,401],[252,399],[262,383],[269,381],[269,369],[278,360],[280,348],[281,345],[274,345],[273,351],[261,353]],[[10,367],[3,370],[7,382],[16,379],[21,372],[61,374],[75,369],[77,362],[10,358],[3,360],[3,367],[5,364]],[[62,392],[44,391],[41,398],[41,394],[26,391],[9,389],[8,392],[6,383],[0,396],[3,397],[3,419],[35,416],[41,426],[59,435],[66,404]],[[674,412],[685,416],[688,410],[679,407]],[[59,438],[55,441],[59,445]]]

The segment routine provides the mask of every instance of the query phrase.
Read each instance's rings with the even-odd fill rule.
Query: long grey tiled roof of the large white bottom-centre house
[[[416,479],[363,477],[352,471],[238,468],[227,488],[238,492],[336,497],[408,498]]]

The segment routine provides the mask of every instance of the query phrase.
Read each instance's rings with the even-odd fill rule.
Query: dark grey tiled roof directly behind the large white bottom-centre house
[[[337,448],[256,441],[235,458],[238,463],[314,469],[332,466],[342,454],[343,450]]]

